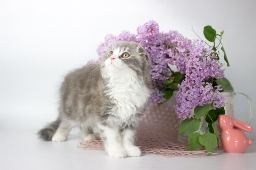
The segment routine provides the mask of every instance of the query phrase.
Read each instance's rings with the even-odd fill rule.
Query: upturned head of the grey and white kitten
[[[102,65],[104,70],[111,74],[118,75],[133,71],[143,76],[150,62],[147,52],[138,43],[122,41],[113,44],[108,49],[103,57]]]

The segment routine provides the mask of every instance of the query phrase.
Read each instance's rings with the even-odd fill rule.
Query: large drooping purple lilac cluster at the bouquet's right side
[[[176,95],[177,105],[175,111],[179,118],[187,117],[195,106],[211,104],[222,107],[225,97],[220,95],[220,85],[213,87],[205,80],[224,77],[222,65],[212,54],[212,49],[206,48],[201,41],[194,41],[190,48],[189,58],[186,62],[185,80],[179,85]]]

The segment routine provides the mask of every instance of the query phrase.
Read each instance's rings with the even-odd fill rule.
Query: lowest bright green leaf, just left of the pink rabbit
[[[214,150],[217,145],[217,137],[211,133],[205,133],[198,137],[198,141],[203,145],[207,152],[214,153]]]

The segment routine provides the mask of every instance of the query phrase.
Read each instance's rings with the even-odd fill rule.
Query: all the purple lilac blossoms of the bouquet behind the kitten
[[[177,31],[159,32],[158,23],[150,20],[138,27],[137,34],[123,31],[118,36],[107,35],[98,47],[98,55],[101,58],[112,43],[124,40],[140,43],[151,58],[153,103],[165,102],[164,93],[159,87],[166,87],[163,81],[172,75],[168,65],[175,65],[186,77],[176,95],[175,109],[178,117],[186,117],[195,106],[212,101],[215,107],[224,105],[224,97],[219,94],[220,86],[213,87],[212,83],[204,82],[206,79],[224,76],[222,65],[212,54],[212,49],[205,47],[204,43],[187,39]]]

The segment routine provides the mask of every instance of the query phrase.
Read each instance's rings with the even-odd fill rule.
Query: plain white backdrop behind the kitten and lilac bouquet
[[[97,58],[106,34],[136,33],[150,19],[190,39],[192,26],[201,37],[205,25],[225,30],[226,77],[256,101],[255,0],[0,0],[0,130],[54,120],[63,76]],[[247,119],[245,99],[236,111]]]

